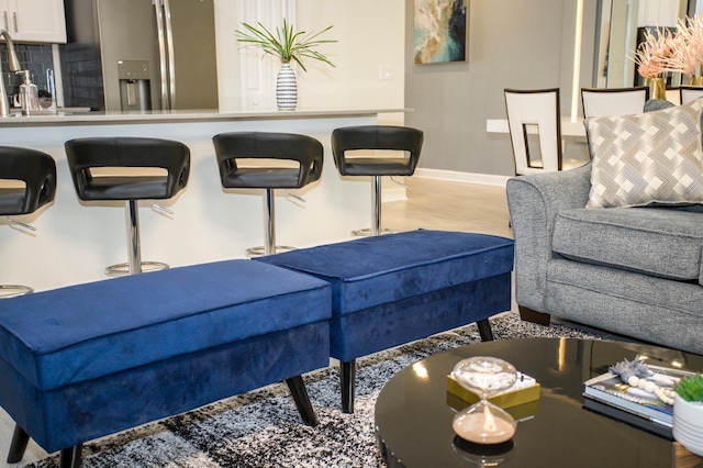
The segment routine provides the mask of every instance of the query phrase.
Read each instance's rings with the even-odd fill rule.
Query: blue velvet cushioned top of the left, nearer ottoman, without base
[[[249,260],[71,286],[0,301],[0,359],[51,390],[328,320],[330,296],[324,281]]]

